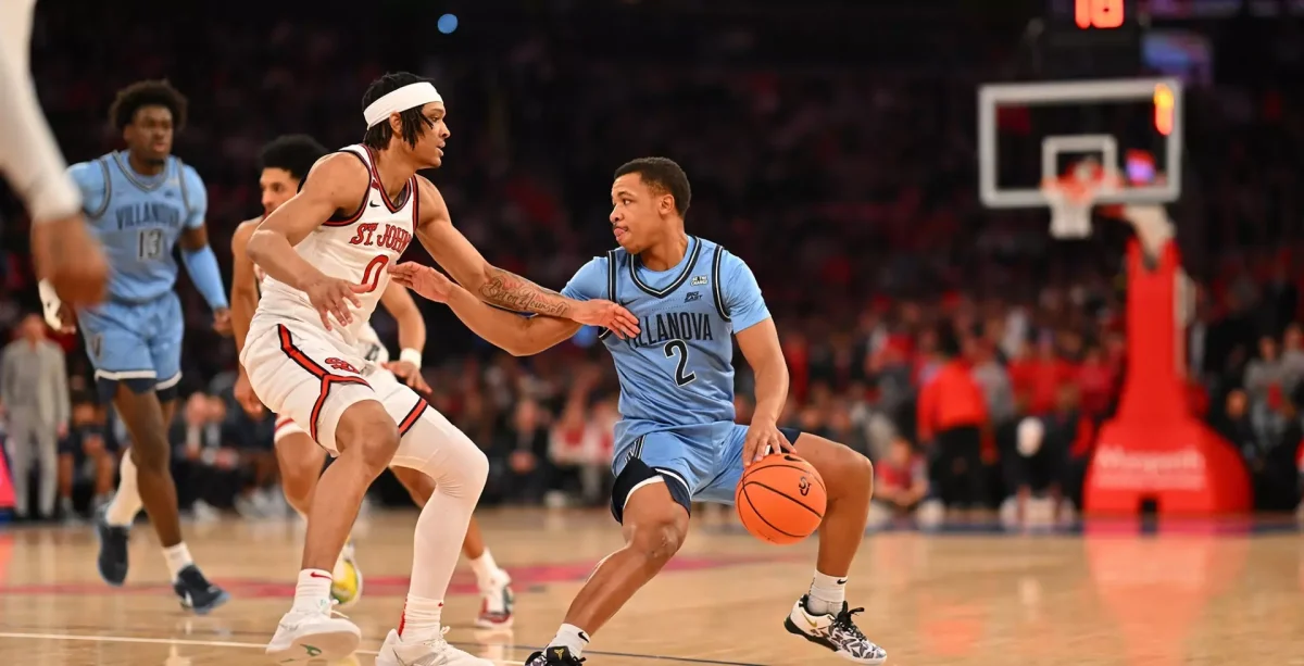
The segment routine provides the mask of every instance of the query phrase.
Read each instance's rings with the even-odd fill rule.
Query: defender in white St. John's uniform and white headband
[[[493,305],[638,334],[623,308],[563,297],[497,268],[452,227],[439,190],[416,175],[442,162],[445,115],[428,81],[381,77],[363,96],[363,143],[318,162],[299,194],[249,237],[248,255],[266,272],[240,357],[249,383],[269,409],[338,452],[313,493],[293,606],[267,645],[280,661],[330,661],[357,648],[357,626],[331,616],[330,571],[368,486],[394,464],[432,477],[436,489],[416,523],[398,631],[386,637],[377,663],[492,663],[449,645],[439,623],[489,463],[409,387],[383,373],[369,375],[356,347],[390,283],[389,268],[413,236]]]

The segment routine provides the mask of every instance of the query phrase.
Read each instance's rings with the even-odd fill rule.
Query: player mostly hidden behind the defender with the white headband
[[[262,190],[263,215],[241,223],[231,239],[231,254],[235,257],[231,271],[231,319],[237,353],[244,349],[249,322],[253,319],[254,309],[258,308],[259,284],[263,279],[262,270],[245,257],[249,236],[253,235],[265,216],[271,215],[299,192],[304,176],[323,155],[326,155],[326,149],[304,134],[279,137],[262,149],[262,173],[258,177],[258,186]],[[385,289],[385,293],[381,295],[381,305],[398,322],[399,344],[403,347],[403,352],[398,361],[390,361],[389,349],[381,343],[370,325],[364,325],[359,331],[357,353],[370,364],[373,374],[393,373],[409,387],[429,392],[430,387],[421,379],[420,349],[425,347],[425,321],[421,318],[421,311],[417,310],[416,302],[407,289],[399,284],[390,284]],[[393,381],[387,378],[386,383],[393,383]],[[235,396],[249,416],[256,418],[262,416],[263,405],[249,386],[249,377],[245,374],[244,366],[239,369]],[[276,448],[286,499],[299,515],[306,516],[313,489],[317,486],[317,478],[326,463],[326,451],[317,446],[317,442],[313,442],[306,430],[288,417],[276,418],[273,443]],[[430,480],[420,472],[403,467],[395,467],[393,472],[399,482],[407,487],[412,500],[419,507],[424,507],[434,491]],[[476,573],[476,581],[480,586],[481,605],[476,624],[481,628],[509,627],[512,606],[511,576],[498,568],[493,555],[485,547],[475,517],[471,519],[471,528],[462,542],[462,553],[471,563],[471,570]],[[339,559],[335,560],[333,576],[331,597],[339,602],[340,607],[356,603],[363,594],[363,573],[353,558],[352,538],[344,546]]]

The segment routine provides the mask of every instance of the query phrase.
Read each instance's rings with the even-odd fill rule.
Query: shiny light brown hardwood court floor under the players
[[[415,512],[360,524],[366,594],[349,611],[376,650],[407,589]],[[449,640],[519,665],[552,637],[580,581],[619,545],[600,514],[488,512],[485,536],[516,580],[510,636],[471,627],[479,598],[459,571]],[[1304,665],[1304,547],[1294,530],[1251,536],[1184,525],[1138,536],[1104,525],[1077,536],[923,534],[866,538],[849,584],[859,624],[896,666]],[[0,665],[266,663],[262,645],[292,594],[300,528],[189,525],[190,550],[233,601],[183,614],[147,525],[132,541],[128,586],[94,567],[89,528],[0,534]],[[778,549],[695,519],[674,564],[601,631],[592,666],[849,663],[784,632],[808,584],[815,543]],[[374,652],[357,663],[370,665]]]

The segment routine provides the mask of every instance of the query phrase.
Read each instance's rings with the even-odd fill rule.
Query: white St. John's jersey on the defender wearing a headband
[[[390,283],[389,267],[398,262],[416,232],[419,201],[416,176],[408,180],[396,201],[381,188],[376,172],[376,160],[370,149],[363,145],[346,146],[340,152],[348,152],[363,160],[370,173],[370,186],[359,209],[348,216],[336,214],[330,220],[313,229],[295,252],[333,278],[342,278],[369,289],[359,293],[361,309],[353,309],[353,323],[348,327],[333,325],[333,334],[349,347],[357,347],[366,335],[374,340],[368,319],[376,311],[381,295]],[[259,274],[262,271],[258,271]],[[308,300],[308,295],[284,284],[270,275],[261,278],[262,297],[258,300],[259,318],[293,319],[321,327],[321,317]],[[349,306],[352,308],[352,306]],[[381,345],[383,349],[383,345]],[[366,355],[364,355],[366,356]]]

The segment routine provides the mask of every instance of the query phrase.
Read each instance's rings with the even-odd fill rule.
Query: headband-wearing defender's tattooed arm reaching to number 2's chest
[[[485,261],[480,250],[452,225],[449,207],[439,190],[425,179],[417,179],[417,182],[421,197],[417,239],[430,257],[477,298],[509,310],[604,326],[622,336],[638,335],[638,318],[619,305],[567,298]]]

